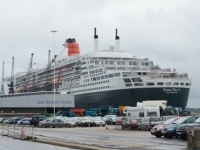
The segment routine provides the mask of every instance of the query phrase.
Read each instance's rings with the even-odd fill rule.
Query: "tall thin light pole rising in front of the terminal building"
[[[54,106],[54,110],[53,110],[53,112],[54,112],[54,117],[56,116],[55,115],[55,67],[56,67],[56,57],[55,57],[55,33],[57,33],[57,31],[51,31],[51,33],[53,33],[53,55],[54,55],[54,73],[53,73],[53,91],[54,91],[54,93],[53,93],[53,100],[54,100],[54,102],[53,102],[53,106]]]

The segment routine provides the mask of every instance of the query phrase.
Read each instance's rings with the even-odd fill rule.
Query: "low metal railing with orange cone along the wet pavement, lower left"
[[[35,139],[34,126],[16,125],[16,124],[0,124],[0,134],[14,139]]]

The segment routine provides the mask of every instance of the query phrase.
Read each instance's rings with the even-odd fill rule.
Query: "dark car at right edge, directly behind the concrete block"
[[[187,140],[187,128],[200,127],[200,117],[194,122],[189,124],[181,124],[176,130],[176,134],[183,140]]]

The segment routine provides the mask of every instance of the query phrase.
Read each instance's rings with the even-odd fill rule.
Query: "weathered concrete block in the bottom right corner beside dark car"
[[[200,127],[187,129],[187,148],[200,149]]]

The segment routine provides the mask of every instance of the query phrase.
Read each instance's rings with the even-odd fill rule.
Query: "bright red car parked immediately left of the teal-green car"
[[[168,124],[171,124],[172,122],[176,121],[177,119],[179,119],[179,117],[174,117],[174,118],[170,118],[168,120],[166,120],[165,122],[153,127],[151,129],[151,134],[152,135],[155,135],[157,138],[160,138],[162,135],[161,135],[161,130],[167,126]]]

